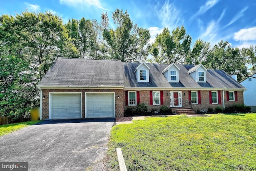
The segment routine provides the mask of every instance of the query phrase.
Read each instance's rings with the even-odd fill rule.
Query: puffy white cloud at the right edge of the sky
[[[240,29],[234,33],[234,40],[236,41],[250,41],[256,40],[256,27],[248,29]]]

